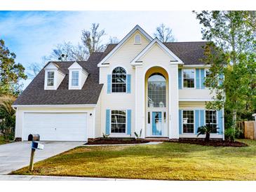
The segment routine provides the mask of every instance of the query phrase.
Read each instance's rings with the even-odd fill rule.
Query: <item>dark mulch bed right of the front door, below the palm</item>
[[[209,142],[205,142],[202,139],[180,139],[179,141],[168,141],[168,142],[177,142],[182,144],[200,144],[204,146],[235,146],[235,147],[241,147],[241,146],[248,146],[248,144],[242,143],[242,142],[230,142],[227,140],[210,140]]]

